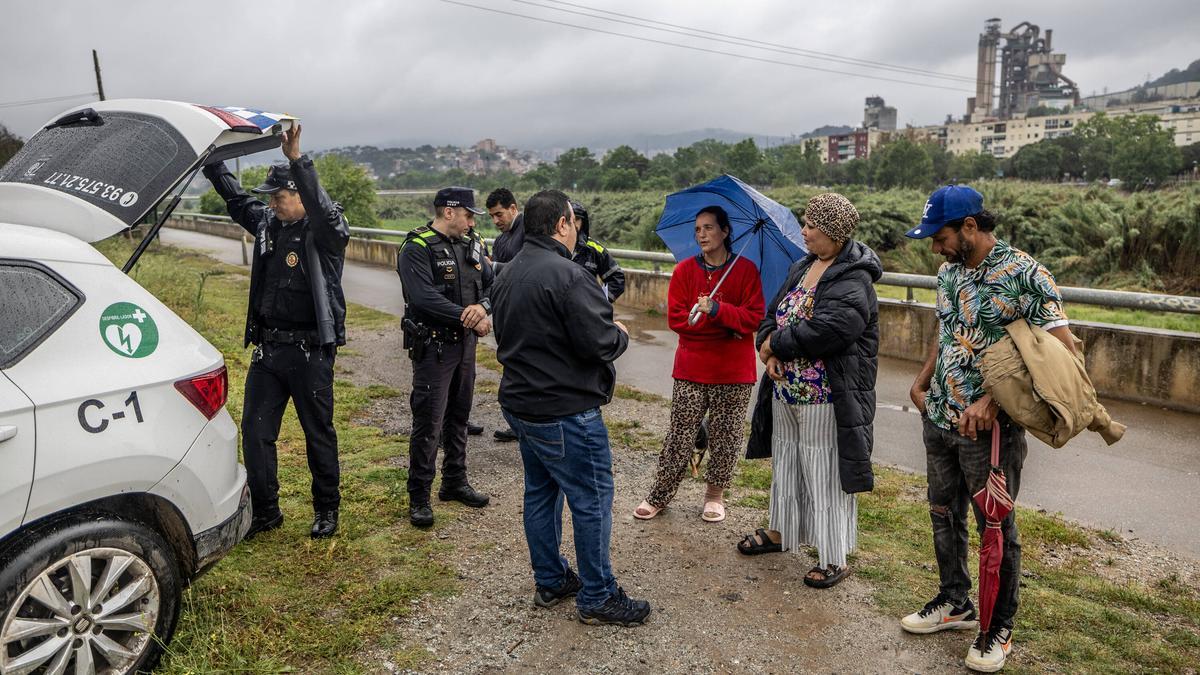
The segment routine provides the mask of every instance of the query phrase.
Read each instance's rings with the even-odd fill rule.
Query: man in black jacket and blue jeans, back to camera
[[[571,262],[576,225],[566,196],[526,203],[524,246],[492,291],[500,407],[521,441],[524,528],[534,603],[576,596],[580,621],[637,626],[650,613],[617,585],[608,560],[612,453],[600,406],[612,400],[612,362],[629,347],[595,279]],[[563,498],[571,508],[580,573],[559,552]]]

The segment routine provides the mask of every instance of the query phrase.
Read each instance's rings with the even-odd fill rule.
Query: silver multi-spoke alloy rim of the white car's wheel
[[[0,674],[127,673],[150,647],[161,593],[120,549],[71,554],[34,578],[0,625]]]

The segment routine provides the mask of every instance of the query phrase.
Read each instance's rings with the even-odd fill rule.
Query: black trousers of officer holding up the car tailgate
[[[341,503],[337,432],[334,430],[334,348],[264,341],[246,374],[241,408],[241,452],[256,516],[278,513],[280,480],[275,442],[290,399],[304,429],[312,508]]]

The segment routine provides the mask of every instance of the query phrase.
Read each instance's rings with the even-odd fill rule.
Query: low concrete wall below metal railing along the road
[[[233,239],[245,234],[230,222],[173,217],[167,225]],[[398,249],[398,241],[355,237],[346,258],[395,268]],[[670,282],[668,273],[626,269],[617,304],[665,313]],[[1073,322],[1072,330],[1084,341],[1087,372],[1102,396],[1200,413],[1200,334],[1090,322]],[[936,331],[932,305],[880,300],[880,354],[923,362]]]

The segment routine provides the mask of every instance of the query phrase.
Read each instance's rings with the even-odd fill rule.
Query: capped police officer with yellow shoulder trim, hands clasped
[[[492,265],[470,227],[484,210],[475,208],[469,187],[439,190],[433,209],[433,221],[408,233],[396,262],[404,289],[404,348],[413,359],[408,519],[418,527],[433,525],[430,491],[439,442],[438,498],[475,508],[488,502],[467,482],[475,342],[492,328],[486,297]]]

